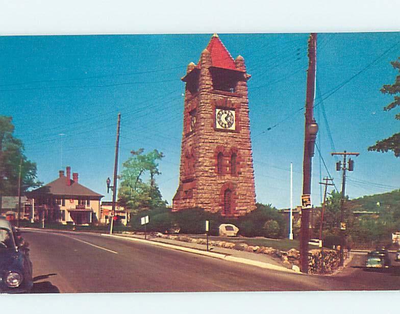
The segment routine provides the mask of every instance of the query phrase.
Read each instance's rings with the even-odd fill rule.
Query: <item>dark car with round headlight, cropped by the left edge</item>
[[[18,232],[0,219],[0,293],[29,292],[33,286],[29,249]]]

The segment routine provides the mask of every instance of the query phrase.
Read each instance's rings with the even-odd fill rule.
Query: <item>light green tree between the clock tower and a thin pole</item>
[[[144,154],[144,149],[132,150],[129,159],[122,164],[118,202],[133,212],[165,206],[155,176],[161,174],[158,161],[164,157],[154,149]],[[146,180],[147,178],[147,180]]]

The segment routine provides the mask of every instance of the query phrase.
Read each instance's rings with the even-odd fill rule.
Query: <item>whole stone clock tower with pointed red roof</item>
[[[199,207],[226,217],[256,208],[247,80],[214,34],[186,83],[180,180],[172,210]]]

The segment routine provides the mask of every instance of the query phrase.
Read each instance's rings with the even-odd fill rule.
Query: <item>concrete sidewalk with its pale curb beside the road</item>
[[[268,256],[267,254],[263,253],[252,253],[252,252],[244,252],[232,249],[226,249],[221,247],[209,246],[209,251],[207,251],[207,246],[203,244],[191,243],[191,242],[183,242],[171,239],[163,239],[159,237],[148,237],[147,240],[144,240],[144,235],[139,234],[106,234],[102,233],[102,236],[105,237],[113,237],[119,239],[126,239],[130,241],[146,243],[157,245],[161,247],[166,247],[174,250],[180,250],[189,253],[195,253],[204,256],[210,256],[214,258],[234,261],[235,263],[241,263],[246,265],[257,266],[265,269],[277,270],[282,272],[288,273],[297,273],[302,274],[299,272],[295,272],[292,269],[288,269],[282,266],[282,264]]]

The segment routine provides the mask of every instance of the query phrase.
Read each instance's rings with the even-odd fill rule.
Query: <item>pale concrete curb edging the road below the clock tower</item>
[[[134,241],[134,242],[157,245],[157,246],[161,246],[161,247],[165,247],[165,248],[169,248],[169,249],[173,249],[173,250],[214,257],[214,258],[218,258],[218,259],[233,261],[235,263],[252,265],[252,266],[256,266],[256,267],[260,267],[260,268],[264,268],[264,269],[270,269],[270,270],[276,270],[276,271],[281,271],[281,272],[286,272],[286,273],[291,273],[291,274],[302,274],[303,275],[303,273],[299,273],[299,272],[293,271],[293,270],[285,268],[285,267],[276,266],[276,265],[272,265],[269,263],[264,263],[263,261],[257,261],[257,260],[253,260],[253,259],[235,257],[232,255],[225,255],[225,254],[215,253],[215,252],[207,252],[207,251],[202,251],[202,250],[198,250],[198,249],[192,249],[192,248],[188,248],[188,247],[167,244],[167,243],[162,243],[162,242],[156,242],[156,241],[151,241],[151,240],[144,240],[144,239],[133,238],[133,237],[127,237],[127,236],[114,236],[113,234],[107,234],[107,233],[101,233],[101,235],[105,236],[105,237],[112,237],[112,238],[124,239],[124,240],[129,240],[129,241]]]

